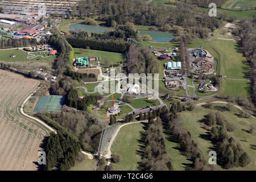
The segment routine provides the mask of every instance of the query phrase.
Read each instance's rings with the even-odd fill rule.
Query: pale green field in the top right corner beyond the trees
[[[253,7],[256,7],[256,1],[253,0],[227,0],[223,3],[221,6],[224,9],[230,9],[230,10],[241,10],[241,9],[251,9]]]

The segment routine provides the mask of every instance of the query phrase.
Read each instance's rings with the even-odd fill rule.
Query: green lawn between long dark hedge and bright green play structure
[[[74,58],[76,57],[98,57],[100,59],[100,64],[105,65],[105,59],[109,60],[109,64],[119,63],[125,59],[125,55],[117,52],[106,52],[106,51],[97,51],[92,49],[84,49],[84,52],[80,53],[79,48],[74,48]]]

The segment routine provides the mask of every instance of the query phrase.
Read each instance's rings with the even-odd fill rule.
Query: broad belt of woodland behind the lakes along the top
[[[92,16],[100,15],[98,18],[106,20],[106,25],[112,27],[131,22],[144,26],[161,27],[165,31],[170,31],[164,28],[168,27],[167,25],[169,24],[171,25],[171,30],[176,31],[176,33],[180,30],[187,30],[195,36],[199,34],[207,35],[209,31],[213,31],[220,26],[221,20],[225,18],[224,16],[209,18],[207,12],[203,15],[196,14],[193,10],[197,6],[189,4],[192,2],[180,2],[175,7],[172,7],[166,6],[162,2],[155,6],[154,1],[146,2],[144,0],[81,1],[78,12],[74,13],[79,13],[80,15],[90,14]],[[221,0],[216,0],[215,2],[220,4]],[[195,1],[194,3],[199,6],[205,6],[204,1]]]

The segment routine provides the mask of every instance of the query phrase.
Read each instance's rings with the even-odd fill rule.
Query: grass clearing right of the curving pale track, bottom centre
[[[144,131],[142,123],[121,128],[111,147],[112,154],[119,154],[122,158],[121,162],[112,163],[114,171],[138,170],[138,162],[141,162],[141,143],[138,141],[141,139],[141,131]]]

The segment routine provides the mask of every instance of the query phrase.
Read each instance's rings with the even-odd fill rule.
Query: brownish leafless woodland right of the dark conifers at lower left
[[[60,113],[40,113],[38,117],[59,130],[66,130],[79,139],[82,150],[96,152],[101,131],[106,127],[94,114],[85,111],[64,110]],[[80,148],[81,148],[80,147]]]

